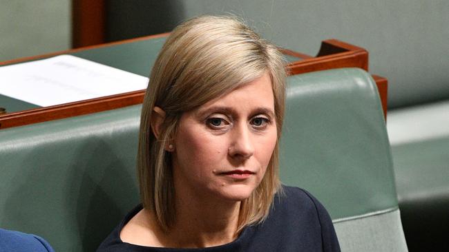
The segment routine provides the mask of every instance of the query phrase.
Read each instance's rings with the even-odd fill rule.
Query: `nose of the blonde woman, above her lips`
[[[252,142],[251,132],[247,125],[234,127],[231,135],[231,145],[228,149],[229,156],[242,159],[253,156],[254,143]]]

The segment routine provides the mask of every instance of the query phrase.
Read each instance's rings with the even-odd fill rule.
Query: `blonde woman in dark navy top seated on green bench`
[[[280,185],[284,101],[282,57],[246,25],[178,26],[142,107],[142,205],[98,251],[339,251],[323,206]]]

